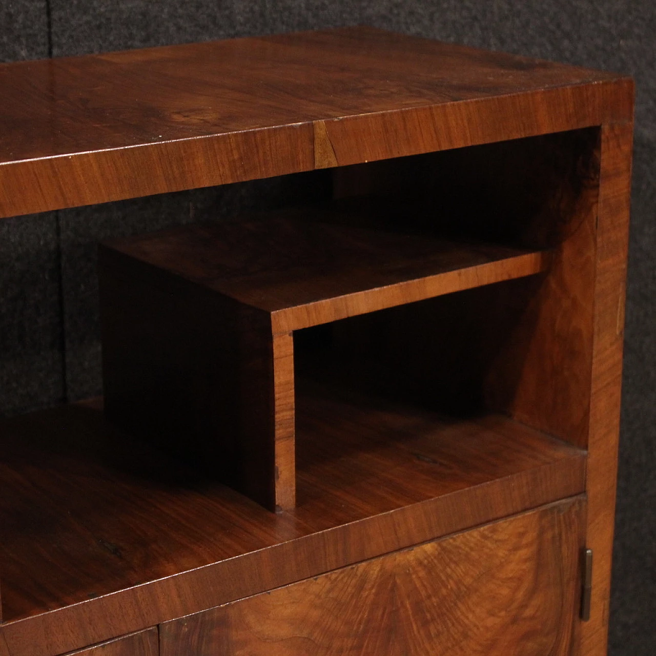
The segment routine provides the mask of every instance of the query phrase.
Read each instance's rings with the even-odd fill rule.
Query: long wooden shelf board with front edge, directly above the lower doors
[[[278,514],[97,404],[3,422],[0,644],[55,656],[584,489],[583,451],[503,417],[298,389],[298,502]]]

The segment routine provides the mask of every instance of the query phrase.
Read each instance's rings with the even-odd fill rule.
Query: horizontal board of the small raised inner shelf
[[[109,246],[104,253],[123,253],[270,313],[274,333],[530,276],[550,262],[549,251],[354,227],[348,215],[319,207]]]

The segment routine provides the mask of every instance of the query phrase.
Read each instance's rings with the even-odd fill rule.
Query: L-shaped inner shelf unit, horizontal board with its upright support
[[[293,508],[293,334],[549,261],[316,207],[113,241],[99,258],[108,417],[270,510]]]

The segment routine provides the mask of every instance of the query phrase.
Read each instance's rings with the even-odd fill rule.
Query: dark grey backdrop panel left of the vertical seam
[[[45,0],[0,1],[0,62],[48,56]],[[0,415],[62,401],[54,214],[0,221]]]

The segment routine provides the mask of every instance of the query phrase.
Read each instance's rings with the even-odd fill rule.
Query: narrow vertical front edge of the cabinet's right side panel
[[[594,550],[590,621],[583,625],[583,656],[607,649],[622,350],[632,123],[602,127],[597,230],[595,318],[588,441],[587,546]]]

